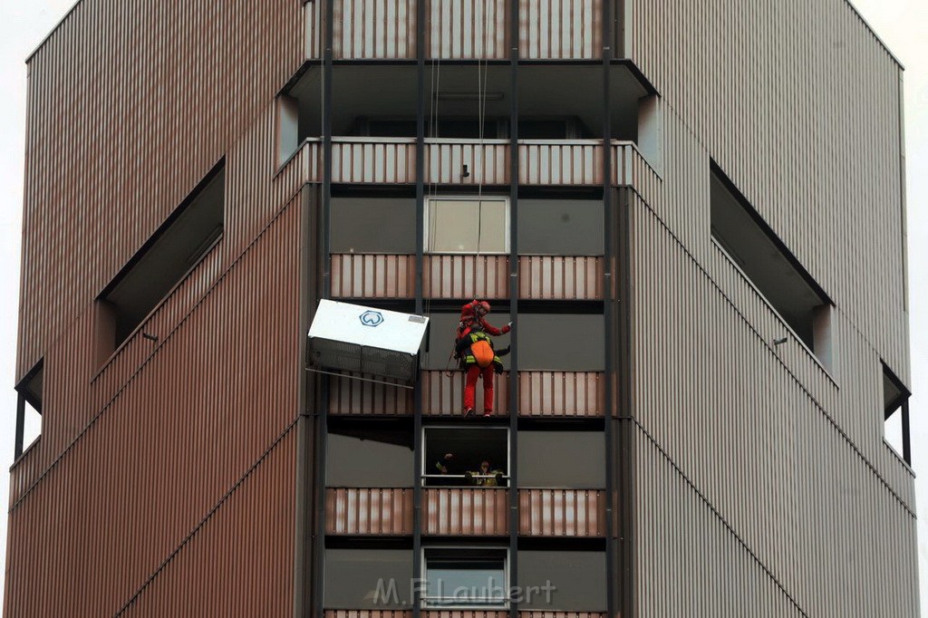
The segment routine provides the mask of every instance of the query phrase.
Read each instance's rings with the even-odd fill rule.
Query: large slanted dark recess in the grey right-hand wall
[[[715,163],[711,176],[713,238],[831,368],[831,299]]]

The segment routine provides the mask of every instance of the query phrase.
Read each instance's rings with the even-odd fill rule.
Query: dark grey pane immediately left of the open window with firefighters
[[[329,428],[326,485],[412,487],[412,431],[387,427]]]

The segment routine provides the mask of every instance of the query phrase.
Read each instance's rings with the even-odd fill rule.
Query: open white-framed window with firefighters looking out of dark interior
[[[431,487],[505,487],[509,484],[509,429],[425,427],[422,484]]]

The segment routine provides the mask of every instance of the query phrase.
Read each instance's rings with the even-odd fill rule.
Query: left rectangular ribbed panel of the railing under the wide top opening
[[[333,183],[416,182],[416,140],[338,137],[332,140]]]

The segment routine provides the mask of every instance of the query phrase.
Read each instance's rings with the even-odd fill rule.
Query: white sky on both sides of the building
[[[802,0],[793,0],[799,2]],[[25,59],[73,5],[71,0],[0,0],[0,462],[13,458],[13,391],[19,298],[26,122]],[[928,3],[924,0],[854,0],[883,42],[905,65],[909,202],[909,308],[912,332],[913,465],[919,512],[928,506]],[[9,475],[0,470],[0,557],[6,557]],[[920,517],[919,554],[928,573],[928,518]],[[890,574],[891,576],[891,574]],[[928,616],[928,577],[922,577],[922,613]],[[0,592],[3,581],[0,580]]]

